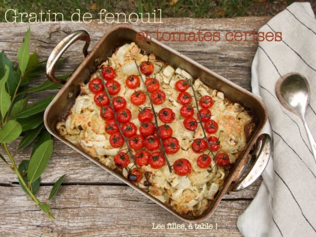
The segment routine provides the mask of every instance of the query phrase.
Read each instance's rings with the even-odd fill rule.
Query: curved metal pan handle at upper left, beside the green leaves
[[[63,38],[53,49],[50,56],[48,57],[46,64],[46,75],[48,79],[50,79],[54,83],[62,82],[61,79],[55,77],[55,68],[59,58],[63,55],[63,53],[77,40],[85,40],[86,44],[83,48],[84,56],[88,55],[88,47],[90,45],[90,36],[88,32],[79,30],[75,31],[65,38]]]

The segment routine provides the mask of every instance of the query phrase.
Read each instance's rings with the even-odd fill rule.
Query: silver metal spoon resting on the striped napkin
[[[303,121],[316,162],[316,142],[305,120],[305,111],[311,95],[308,81],[301,74],[289,73],[278,80],[275,91],[281,104]]]

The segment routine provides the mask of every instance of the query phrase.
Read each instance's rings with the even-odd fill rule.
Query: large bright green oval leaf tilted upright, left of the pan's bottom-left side
[[[32,183],[38,179],[46,166],[53,153],[53,140],[43,142],[31,156],[29,167],[27,169],[27,177]]]

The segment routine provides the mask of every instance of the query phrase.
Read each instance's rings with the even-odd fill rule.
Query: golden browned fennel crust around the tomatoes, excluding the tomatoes
[[[155,77],[160,82],[160,88],[166,93],[167,100],[162,105],[155,105],[158,112],[162,107],[169,107],[176,113],[176,119],[169,125],[173,129],[173,136],[179,140],[181,149],[176,154],[168,154],[168,160],[173,164],[178,158],[186,158],[191,162],[192,172],[186,176],[179,176],[174,171],[170,172],[165,165],[160,169],[153,169],[150,165],[139,169],[143,173],[142,180],[137,185],[174,209],[181,215],[199,216],[209,207],[211,200],[223,184],[228,170],[218,167],[214,160],[207,169],[197,166],[198,155],[191,149],[194,138],[203,137],[201,125],[196,131],[188,131],[183,127],[183,118],[179,114],[180,104],[176,101],[178,92],[174,85],[179,79],[192,80],[193,87],[197,91],[198,99],[204,95],[210,95],[214,101],[211,107],[212,119],[216,120],[219,129],[214,134],[219,137],[221,152],[229,155],[230,163],[234,163],[246,146],[247,137],[251,134],[254,121],[243,106],[231,102],[223,92],[209,88],[200,79],[193,80],[192,76],[180,68],[171,68],[165,62],[156,60],[155,55],[149,56],[141,53],[135,43],[125,44],[113,53],[99,69],[91,74],[90,79],[101,77],[102,67],[110,65],[116,70],[116,80],[121,83],[121,91],[118,94],[127,101],[127,108],[132,112],[131,121],[140,126],[137,119],[139,108],[131,104],[130,96],[134,90],[125,86],[125,78],[128,74],[137,74],[135,61],[150,60],[155,65],[155,71],[150,77]],[[124,177],[128,175],[128,169],[135,166],[133,161],[124,169],[118,169],[114,165],[113,157],[119,151],[127,151],[126,145],[122,148],[112,148],[109,143],[109,135],[105,133],[105,121],[100,116],[100,107],[93,101],[93,94],[88,89],[88,84],[81,84],[81,92],[76,98],[68,117],[59,121],[56,130],[90,156],[99,160],[110,169],[116,170]],[[140,90],[144,85],[140,85]],[[190,91],[191,90],[191,91]],[[188,91],[192,94],[192,89]],[[149,99],[141,107],[150,106]],[[195,114],[196,114],[196,109]],[[158,125],[162,122],[159,121]],[[139,132],[138,132],[139,133]]]

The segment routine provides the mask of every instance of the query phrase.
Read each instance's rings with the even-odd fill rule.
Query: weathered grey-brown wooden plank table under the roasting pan
[[[191,57],[193,60],[228,78],[234,83],[250,90],[250,67],[257,49],[257,42],[228,42],[227,32],[251,32],[267,22],[269,17],[241,17],[222,19],[163,18],[164,24],[135,24],[141,31],[148,30],[151,36],[155,31],[186,33],[220,32],[218,42],[165,42],[170,47]],[[91,46],[115,24],[38,23],[8,24],[0,23],[0,50],[9,58],[16,60],[18,48],[27,27],[31,28],[30,52],[36,51],[41,60],[47,59],[59,40],[74,30],[83,29],[91,36]],[[65,56],[66,61],[59,73],[71,72],[83,59],[83,42],[71,46]],[[79,56],[78,56],[79,55]],[[35,80],[40,84],[45,77]],[[37,94],[31,102],[44,98],[56,91]],[[17,144],[10,144],[16,147]],[[4,152],[1,152],[4,153]],[[19,163],[29,157],[31,149],[16,153]],[[87,158],[71,150],[55,139],[53,156],[42,175],[39,200],[45,200],[53,182],[62,174],[67,177],[59,193],[50,201],[52,214],[50,220],[30,197],[18,186],[17,177],[3,162],[0,163],[0,235],[1,236],[241,236],[236,222],[238,216],[247,208],[257,193],[261,179],[252,186],[237,193],[226,194],[214,214],[204,224],[212,229],[158,230],[158,224],[185,224],[168,211],[149,201],[146,197],[126,186],[104,169]],[[153,227],[155,226],[155,228]]]

